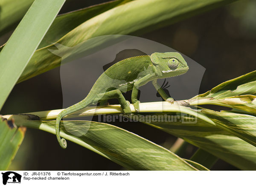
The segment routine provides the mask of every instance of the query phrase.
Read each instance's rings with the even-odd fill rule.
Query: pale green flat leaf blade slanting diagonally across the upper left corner
[[[0,109],[64,2],[35,0],[0,52]]]

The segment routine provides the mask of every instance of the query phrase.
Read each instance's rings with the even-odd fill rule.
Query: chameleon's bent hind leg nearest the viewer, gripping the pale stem
[[[109,92],[99,94],[99,96],[101,96],[101,95],[103,95],[101,98],[101,100],[102,100],[101,102],[105,102],[105,100],[116,98],[116,99],[118,99],[124,113],[131,114],[130,103],[129,103],[129,101],[125,100],[125,97],[123,96],[122,92],[119,89],[111,90]]]

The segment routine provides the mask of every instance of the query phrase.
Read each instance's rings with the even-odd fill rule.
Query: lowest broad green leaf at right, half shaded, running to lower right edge
[[[161,115],[161,113],[158,114]],[[172,115],[173,113],[169,114]],[[147,115],[149,114],[147,113]],[[182,116],[180,115],[180,117]],[[189,116],[185,118],[187,120],[193,119],[189,118]],[[205,120],[198,118],[196,123],[181,123],[177,121],[143,123],[183,138],[187,142],[221,158],[239,169],[256,170],[255,146],[218,126],[207,123]]]

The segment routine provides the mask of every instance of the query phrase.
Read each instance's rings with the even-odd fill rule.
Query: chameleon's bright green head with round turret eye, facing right
[[[150,56],[157,76],[174,77],[185,74],[189,70],[184,58],[178,52],[155,52]]]

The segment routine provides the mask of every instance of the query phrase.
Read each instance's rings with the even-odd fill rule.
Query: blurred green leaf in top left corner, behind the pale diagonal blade
[[[0,0],[0,33],[12,29],[22,19],[33,1]]]

